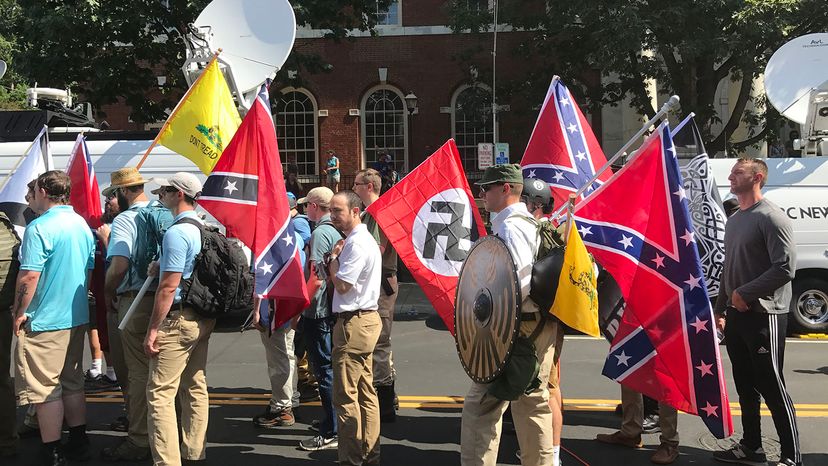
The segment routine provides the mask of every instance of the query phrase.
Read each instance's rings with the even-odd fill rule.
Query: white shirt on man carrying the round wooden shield
[[[526,209],[526,204],[517,202],[501,210],[492,217],[492,233],[506,243],[512,259],[515,261],[520,291],[523,297],[523,312],[534,312],[537,306],[529,300],[532,284],[532,266],[538,254],[540,238],[538,227],[532,221],[534,217]]]

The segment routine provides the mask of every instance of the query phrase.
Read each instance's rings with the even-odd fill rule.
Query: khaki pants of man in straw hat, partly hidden
[[[118,313],[129,309],[135,299],[122,297],[118,302]],[[147,378],[149,377],[149,358],[144,352],[144,338],[147,336],[155,295],[148,293],[141,299],[135,313],[130,317],[126,327],[120,331],[123,359],[129,374],[128,394],[126,399],[127,417],[129,418],[129,440],[139,447],[149,447],[147,437]]]

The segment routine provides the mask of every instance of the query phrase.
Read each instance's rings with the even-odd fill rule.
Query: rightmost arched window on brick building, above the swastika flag
[[[492,92],[488,87],[463,86],[454,93],[451,103],[452,136],[460,151],[466,173],[477,168],[477,144],[494,142],[492,128]]]

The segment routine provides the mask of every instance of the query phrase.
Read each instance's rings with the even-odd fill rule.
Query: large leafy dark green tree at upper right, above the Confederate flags
[[[451,1],[455,29],[491,29],[493,11],[474,5]],[[645,83],[655,79],[659,92],[681,97],[683,113],[696,113],[708,149],[715,152],[753,144],[772,131],[779,116],[764,97],[754,102],[756,111],[748,105],[753,81],[779,46],[822,31],[828,9],[818,0],[500,0],[498,22],[523,31],[513,53],[533,68],[515,88],[537,95],[558,74],[594,106],[630,97],[638,111],[653,115],[657,109]],[[595,70],[615,79],[584,79]],[[739,83],[731,115],[716,111],[716,88],[723,79]],[[763,121],[768,124],[760,127]],[[717,122],[723,129],[711,134]],[[751,137],[730,141],[741,122]]]

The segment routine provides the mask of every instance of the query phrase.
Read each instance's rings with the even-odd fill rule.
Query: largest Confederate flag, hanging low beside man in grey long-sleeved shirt
[[[626,301],[604,375],[697,414],[717,438],[731,435],[715,320],[666,123],[574,218]]]

